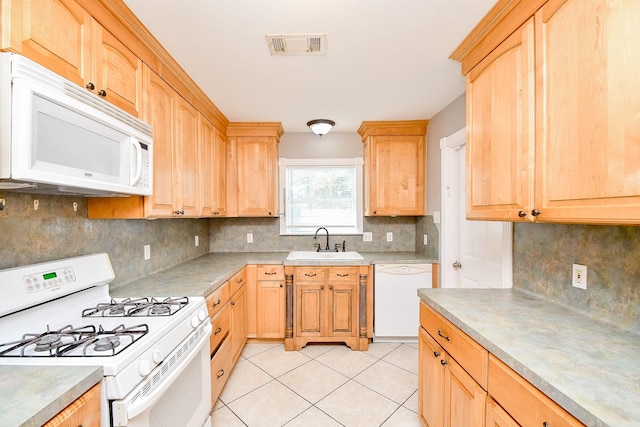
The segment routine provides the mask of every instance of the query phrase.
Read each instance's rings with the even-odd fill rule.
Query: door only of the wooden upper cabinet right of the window
[[[368,215],[424,215],[424,136],[374,136]]]

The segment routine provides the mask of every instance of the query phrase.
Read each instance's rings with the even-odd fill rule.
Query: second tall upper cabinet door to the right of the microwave
[[[200,159],[198,156],[198,112],[181,96],[176,97],[174,169],[176,202],[180,216],[200,215]]]

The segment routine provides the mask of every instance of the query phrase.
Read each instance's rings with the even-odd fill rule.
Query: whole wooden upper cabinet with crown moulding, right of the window
[[[364,214],[425,215],[428,120],[362,122]]]

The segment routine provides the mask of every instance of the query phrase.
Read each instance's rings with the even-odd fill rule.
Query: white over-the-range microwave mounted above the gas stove
[[[151,195],[151,127],[35,62],[0,53],[0,191]]]

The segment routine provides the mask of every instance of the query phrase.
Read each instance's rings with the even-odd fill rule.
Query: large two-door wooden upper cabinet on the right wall
[[[467,76],[467,214],[640,224],[640,3],[501,0]]]

